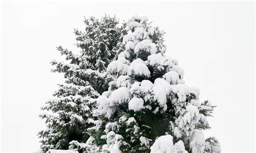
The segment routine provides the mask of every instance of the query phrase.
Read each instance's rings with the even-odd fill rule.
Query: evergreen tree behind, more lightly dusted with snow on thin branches
[[[85,19],[85,31],[75,30],[79,54],[57,47],[65,62],[53,60],[52,72],[64,74],[65,83],[53,93],[55,99],[42,106],[46,129],[39,132],[41,149],[75,149],[83,151],[83,145],[90,137],[87,128],[93,124],[90,119],[96,108],[96,99],[107,90],[113,76],[106,72],[107,65],[124,50],[124,25],[116,17],[104,16]]]

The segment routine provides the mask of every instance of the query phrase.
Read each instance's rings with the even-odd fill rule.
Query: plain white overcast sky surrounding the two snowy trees
[[[3,2],[1,8],[2,151],[36,151],[38,117],[61,74],[56,46],[76,50],[73,28],[84,16],[147,16],[166,32],[167,54],[188,85],[215,108],[212,129],[223,151],[254,151],[254,2]]]

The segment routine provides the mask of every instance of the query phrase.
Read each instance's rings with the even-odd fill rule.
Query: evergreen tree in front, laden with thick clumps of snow
[[[165,55],[164,32],[146,17],[126,24],[125,50],[107,67],[117,79],[93,111],[93,143],[106,152],[220,150],[217,139],[203,134],[215,106],[199,102],[199,90],[185,84],[178,61]]]

